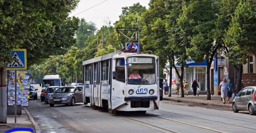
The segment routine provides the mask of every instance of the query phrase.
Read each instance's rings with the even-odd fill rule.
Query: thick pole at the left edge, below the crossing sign
[[[0,123],[7,123],[6,63],[0,67]]]

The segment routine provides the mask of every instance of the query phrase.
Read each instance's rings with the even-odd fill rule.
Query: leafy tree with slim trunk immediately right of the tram
[[[171,68],[173,55],[170,47],[167,46],[168,38],[166,35],[168,8],[162,0],[152,0],[149,5],[150,8],[142,14],[141,45],[144,50],[152,50],[155,55],[159,56],[160,69],[165,68],[168,60]],[[172,74],[170,73],[170,75]],[[172,77],[170,76],[169,96],[171,96],[171,81]]]

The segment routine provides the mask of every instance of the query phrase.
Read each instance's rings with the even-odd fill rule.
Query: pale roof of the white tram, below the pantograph
[[[90,63],[93,63],[93,62],[102,61],[102,60],[112,59],[112,58],[122,58],[122,57],[130,56],[130,55],[155,56],[153,54],[124,53],[123,51],[116,51],[116,52],[109,53],[109,54],[106,54],[106,55],[103,55],[103,56],[99,56],[99,57],[95,57],[95,58],[92,58],[92,59],[89,59],[89,60],[85,60],[85,61],[83,61],[83,65],[90,64]]]

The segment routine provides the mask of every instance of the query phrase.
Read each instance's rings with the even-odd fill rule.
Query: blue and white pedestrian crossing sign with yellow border
[[[7,63],[6,70],[27,70],[26,49],[13,49],[10,54],[14,60],[11,63]]]

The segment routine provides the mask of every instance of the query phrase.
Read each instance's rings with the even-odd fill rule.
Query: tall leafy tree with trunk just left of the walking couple
[[[207,100],[211,100],[210,68],[213,57],[220,47],[214,44],[214,19],[217,19],[219,4],[215,0],[183,1],[183,14],[179,18],[182,31],[187,33],[191,48],[188,55],[196,62],[207,63]]]

